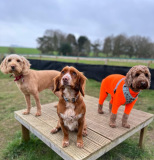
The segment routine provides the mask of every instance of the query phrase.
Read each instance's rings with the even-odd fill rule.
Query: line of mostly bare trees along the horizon
[[[128,37],[125,34],[108,36],[102,42],[91,42],[87,36],[75,37],[60,30],[46,30],[37,38],[42,54],[58,53],[67,56],[105,56],[125,58],[154,58],[154,43],[143,36]]]

